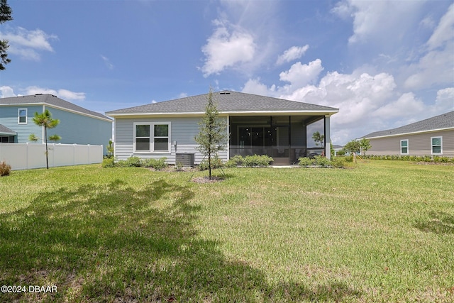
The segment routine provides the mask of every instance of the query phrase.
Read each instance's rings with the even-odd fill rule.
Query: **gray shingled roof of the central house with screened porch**
[[[200,94],[193,97],[185,97],[170,101],[162,101],[153,104],[118,109],[106,112],[106,115],[127,114],[203,114],[208,94]],[[256,94],[242,92],[214,92],[213,100],[217,103],[219,113],[236,112],[270,112],[270,111],[321,111],[335,114],[338,109],[316,104],[307,104],[298,101],[264,97]]]

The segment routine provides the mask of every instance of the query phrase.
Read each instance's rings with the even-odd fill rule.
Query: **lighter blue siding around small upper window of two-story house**
[[[18,109],[27,109],[27,123],[18,123]],[[34,133],[35,136],[41,138],[42,131],[39,126],[33,122],[35,112],[43,112],[43,106],[31,106],[23,104],[21,106],[0,106],[0,124],[10,128],[17,133],[16,143],[27,143],[28,136]]]

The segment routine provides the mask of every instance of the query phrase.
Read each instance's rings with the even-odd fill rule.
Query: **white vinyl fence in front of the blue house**
[[[48,144],[49,167],[101,163],[103,145]],[[45,144],[0,143],[0,162],[12,170],[45,167]]]

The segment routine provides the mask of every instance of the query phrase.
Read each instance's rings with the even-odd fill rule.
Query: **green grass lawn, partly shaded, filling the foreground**
[[[0,302],[454,302],[453,165],[224,171],[1,177]]]

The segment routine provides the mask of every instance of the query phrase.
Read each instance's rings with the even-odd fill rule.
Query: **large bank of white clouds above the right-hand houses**
[[[318,67],[314,71],[321,72],[321,61],[314,62],[316,64],[313,65]],[[294,66],[299,67],[294,70],[301,70],[303,66],[308,69],[311,63],[302,65],[299,62]],[[327,72],[317,83],[315,75],[319,74],[316,72],[314,77],[306,78],[311,81],[295,82],[298,72],[290,70],[282,74],[285,77],[281,77],[281,81],[293,81],[291,85],[273,84],[268,87],[260,82],[260,78],[249,79],[243,92],[338,108],[339,113],[331,118],[333,143],[343,144],[372,131],[426,119],[453,110],[454,107],[453,87],[438,91],[436,100],[423,102],[413,92],[399,92],[394,77],[386,72]],[[292,75],[295,78],[289,77]]]

